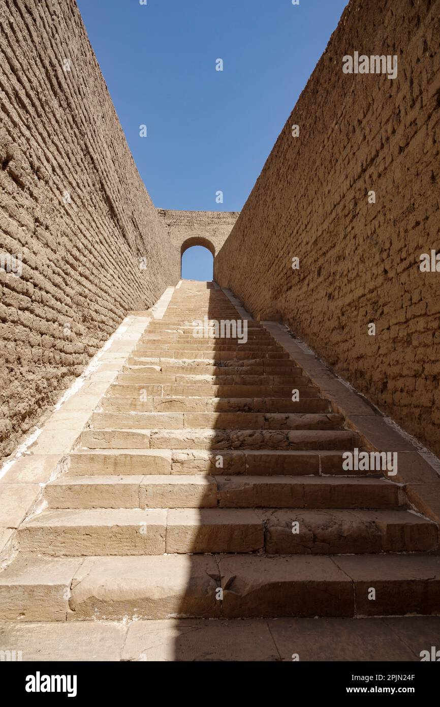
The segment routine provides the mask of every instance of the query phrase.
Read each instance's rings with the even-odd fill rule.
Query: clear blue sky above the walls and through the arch
[[[347,0],[77,3],[155,206],[240,211]]]

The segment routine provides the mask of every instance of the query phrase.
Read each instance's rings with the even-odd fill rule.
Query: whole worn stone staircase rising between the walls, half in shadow
[[[0,619],[438,613],[437,525],[391,479],[343,471],[357,433],[263,325],[197,339],[205,315],[240,318],[182,281],[145,330],[20,525]]]

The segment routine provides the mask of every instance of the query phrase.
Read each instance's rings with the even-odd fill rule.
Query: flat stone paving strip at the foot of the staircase
[[[420,662],[439,631],[440,617],[1,622],[0,650],[23,662]]]

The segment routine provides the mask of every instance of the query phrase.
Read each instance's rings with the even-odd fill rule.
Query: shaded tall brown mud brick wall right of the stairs
[[[440,251],[439,16],[439,0],[350,2],[215,259],[254,315],[437,453],[440,272],[420,255]],[[396,54],[397,77],[344,74],[355,51]]]

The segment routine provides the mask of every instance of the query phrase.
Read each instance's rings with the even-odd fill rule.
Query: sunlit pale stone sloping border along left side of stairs
[[[0,566],[14,554],[23,520],[44,508],[42,491],[64,472],[64,458],[88,425],[102,396],[117,379],[152,320],[162,319],[174,287],[145,312],[128,312],[117,330],[64,392],[54,410],[0,469]]]

